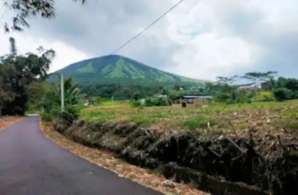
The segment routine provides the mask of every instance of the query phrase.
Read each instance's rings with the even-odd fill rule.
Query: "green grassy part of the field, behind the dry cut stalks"
[[[209,123],[212,121],[216,127],[223,127],[222,118],[235,118],[233,115],[236,112],[241,112],[241,117],[245,118],[249,116],[248,113],[262,109],[271,110],[271,114],[283,114],[283,116],[294,118],[294,116],[297,116],[297,109],[295,109],[297,107],[298,100],[229,105],[217,103],[198,108],[172,108],[170,106],[134,108],[129,104],[119,104],[85,108],[81,111],[80,118],[89,121],[131,120],[144,125],[159,124],[163,127],[172,125],[177,128],[194,129],[198,127],[206,128],[208,121]],[[278,113],[279,108],[286,109],[283,113]],[[212,124],[210,125],[212,126]]]

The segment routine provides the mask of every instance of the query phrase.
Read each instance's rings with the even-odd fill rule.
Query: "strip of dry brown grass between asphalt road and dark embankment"
[[[152,171],[133,166],[120,160],[110,152],[89,148],[73,141],[70,141],[63,135],[53,130],[49,124],[41,122],[41,127],[48,138],[53,142],[69,150],[70,152],[78,155],[91,163],[111,170],[119,175],[119,177],[129,178],[134,182],[138,182],[156,191],[164,194],[183,194],[183,195],[205,195],[208,193],[198,191],[191,185],[183,185],[180,183],[169,181],[161,174],[153,174]],[[166,181],[166,182],[165,182]]]

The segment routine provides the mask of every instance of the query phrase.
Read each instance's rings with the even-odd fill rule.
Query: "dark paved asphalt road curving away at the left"
[[[31,116],[0,131],[1,195],[160,194],[56,145]]]

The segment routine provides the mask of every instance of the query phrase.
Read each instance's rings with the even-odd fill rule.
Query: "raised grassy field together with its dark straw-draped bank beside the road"
[[[298,102],[96,107],[55,130],[212,194],[298,192]]]

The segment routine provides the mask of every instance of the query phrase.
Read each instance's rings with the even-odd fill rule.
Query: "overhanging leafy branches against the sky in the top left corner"
[[[86,0],[73,1],[80,1],[82,4],[86,3]],[[5,1],[4,5],[7,9],[13,10],[15,14],[12,18],[12,24],[4,24],[5,32],[10,32],[10,30],[23,31],[24,27],[29,28],[30,24],[27,22],[27,19],[30,17],[55,18],[54,0],[13,0],[12,3]]]

